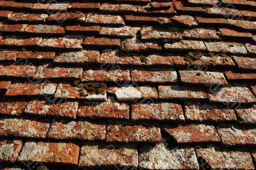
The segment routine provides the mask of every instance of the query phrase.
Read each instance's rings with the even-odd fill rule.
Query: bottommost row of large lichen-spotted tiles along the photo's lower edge
[[[23,145],[23,146],[22,146]],[[47,143],[20,140],[0,141],[0,153],[3,160],[22,162],[26,168],[33,166],[31,162],[44,164],[71,164],[78,167],[116,166],[139,169],[255,169],[255,150],[221,150],[218,147],[207,148],[173,148],[168,143],[144,145],[136,148],[83,143],[81,148],[76,143]],[[33,152],[31,152],[33,150]],[[80,154],[79,154],[80,153]],[[37,166],[37,167],[38,167]],[[115,168],[115,167],[114,167]],[[7,170],[6,168],[5,170]],[[136,169],[136,168],[135,168]],[[22,168],[20,169],[22,170]]]

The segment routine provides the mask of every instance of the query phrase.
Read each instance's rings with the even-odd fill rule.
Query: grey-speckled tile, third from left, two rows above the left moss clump
[[[99,62],[100,53],[92,50],[81,50],[79,52],[60,53],[54,58],[54,62],[69,64],[89,64]]]

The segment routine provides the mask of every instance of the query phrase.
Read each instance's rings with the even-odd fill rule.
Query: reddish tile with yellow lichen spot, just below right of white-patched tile
[[[132,104],[132,120],[185,121],[182,106],[176,103]]]

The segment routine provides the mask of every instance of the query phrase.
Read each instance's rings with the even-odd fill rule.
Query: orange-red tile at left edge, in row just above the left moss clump
[[[13,78],[29,78],[33,77],[36,73],[35,66],[0,66],[1,77],[13,77]]]

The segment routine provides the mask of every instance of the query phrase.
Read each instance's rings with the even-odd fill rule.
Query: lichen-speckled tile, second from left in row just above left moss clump
[[[54,79],[81,79],[83,68],[51,67],[49,65],[39,66],[35,78]]]

